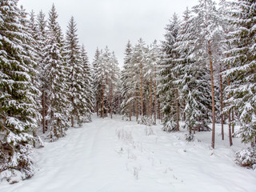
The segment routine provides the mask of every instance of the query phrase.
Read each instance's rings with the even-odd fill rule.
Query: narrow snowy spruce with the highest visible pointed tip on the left
[[[53,5],[49,13],[47,40],[43,50],[47,86],[46,103],[48,105],[46,120],[49,122],[50,141],[63,137],[70,126],[68,121],[70,117],[70,102],[66,96],[66,68],[61,54],[62,46],[58,43],[60,31],[57,18],[58,14]]]

